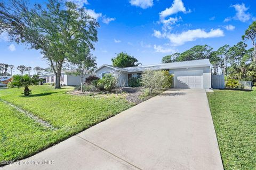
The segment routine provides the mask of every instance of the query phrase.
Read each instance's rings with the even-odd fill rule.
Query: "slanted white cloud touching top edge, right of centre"
[[[164,19],[165,17],[168,17],[178,12],[187,13],[187,12],[190,12],[190,10],[188,11],[186,10],[186,7],[184,6],[181,0],[174,0],[172,3],[172,6],[160,12],[159,15],[161,19]]]

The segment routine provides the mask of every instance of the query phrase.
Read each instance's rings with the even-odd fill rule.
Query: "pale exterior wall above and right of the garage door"
[[[174,74],[174,71],[192,71],[192,70],[203,70],[203,84],[204,88],[211,88],[211,69],[210,67],[195,67],[195,68],[182,68],[182,69],[171,69],[170,74]],[[174,82],[173,82],[174,85]]]

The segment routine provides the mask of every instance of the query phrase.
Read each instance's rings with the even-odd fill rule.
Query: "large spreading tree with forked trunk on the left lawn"
[[[24,0],[0,3],[0,33],[40,50],[54,71],[55,88],[60,88],[61,69],[69,62],[74,43],[86,43],[94,50],[98,26],[83,7],[71,2],[49,0],[45,6],[33,8]]]

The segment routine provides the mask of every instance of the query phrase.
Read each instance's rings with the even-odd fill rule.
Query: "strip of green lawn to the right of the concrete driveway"
[[[226,170],[256,169],[256,89],[207,93]]]

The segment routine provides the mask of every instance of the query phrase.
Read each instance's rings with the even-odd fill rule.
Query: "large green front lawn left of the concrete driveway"
[[[0,90],[0,99],[31,112],[57,128],[46,128],[0,102],[0,161],[33,155],[134,105],[122,96],[113,94],[66,94],[72,89],[35,86],[31,87],[31,96],[23,96],[23,88]]]

